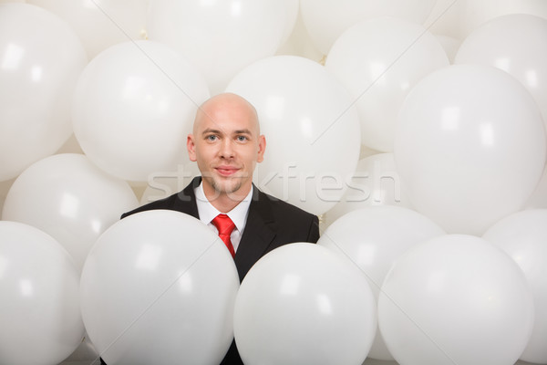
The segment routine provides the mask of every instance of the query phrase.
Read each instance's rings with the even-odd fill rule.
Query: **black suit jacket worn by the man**
[[[194,189],[200,183],[201,177],[196,177],[180,193],[140,206],[122,214],[121,217],[152,209],[169,209],[190,214],[199,219]],[[259,258],[274,248],[294,242],[316,243],[318,239],[317,216],[263,193],[253,185],[253,199],[249,206],[247,223],[234,258],[240,281],[243,281],[243,277]],[[235,341],[232,341],[232,346],[222,360],[222,364],[243,364],[235,347]]]

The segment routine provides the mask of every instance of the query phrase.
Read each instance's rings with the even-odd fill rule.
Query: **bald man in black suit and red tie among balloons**
[[[253,185],[254,167],[263,161],[266,140],[260,134],[256,110],[246,99],[225,93],[205,101],[196,114],[187,148],[191,161],[198,163],[201,177],[180,193],[141,206],[122,218],[150,209],[170,209],[199,218],[219,233],[215,217],[228,215],[234,228],[230,239],[222,240],[232,252],[240,281],[274,248],[318,240],[315,215]],[[242,363],[232,342],[222,364]]]

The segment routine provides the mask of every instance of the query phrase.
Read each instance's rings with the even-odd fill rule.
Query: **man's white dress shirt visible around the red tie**
[[[205,193],[203,192],[203,182],[200,183],[200,186],[194,189],[194,193],[196,194],[196,203],[198,205],[200,221],[207,224],[207,226],[210,227],[216,235],[218,235],[219,231],[214,224],[212,224],[212,220],[218,214],[222,213],[219,212],[217,208],[212,206],[212,203],[210,203],[207,200],[207,197],[205,197]],[[237,251],[237,247],[242,239],[243,229],[245,228],[245,223],[247,222],[247,214],[249,213],[249,206],[251,205],[252,197],[253,186],[251,186],[251,191],[247,194],[243,201],[237,204],[230,212],[226,213],[226,215],[232,219],[233,224],[235,224],[232,235],[230,235],[230,240],[232,241],[234,251]]]

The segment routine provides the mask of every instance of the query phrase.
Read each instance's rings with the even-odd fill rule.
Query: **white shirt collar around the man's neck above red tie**
[[[201,222],[210,224],[214,217],[221,214],[221,212],[207,200],[207,197],[203,192],[203,182],[194,190],[194,193],[196,194],[196,203],[198,205],[198,214],[200,215]],[[226,213],[240,232],[243,232],[243,228],[245,227],[252,197],[253,186],[251,186],[251,191],[249,191],[243,201],[238,203],[230,212]]]

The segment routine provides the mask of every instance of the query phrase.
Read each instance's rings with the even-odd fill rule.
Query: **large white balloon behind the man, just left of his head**
[[[89,62],[74,96],[74,133],[99,168],[145,182],[187,162],[186,136],[205,80],[170,47],[151,41],[109,47]]]

